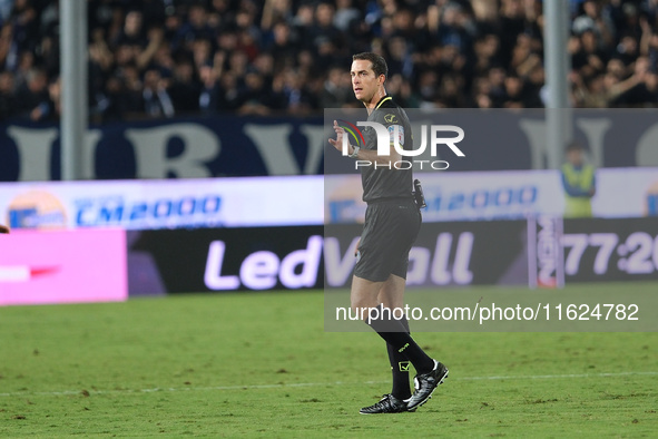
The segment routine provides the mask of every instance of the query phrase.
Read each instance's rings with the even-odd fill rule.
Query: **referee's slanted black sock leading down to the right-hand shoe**
[[[396,352],[406,355],[418,373],[428,373],[434,368],[434,361],[413,341],[400,320],[393,319],[385,310],[382,312],[381,308],[366,323]]]

